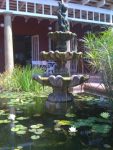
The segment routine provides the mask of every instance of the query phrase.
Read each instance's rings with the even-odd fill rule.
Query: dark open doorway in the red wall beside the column
[[[31,36],[15,35],[13,40],[14,62],[25,66],[31,63]]]

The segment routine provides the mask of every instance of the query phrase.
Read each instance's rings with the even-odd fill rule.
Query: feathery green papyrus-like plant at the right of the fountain
[[[91,59],[91,65],[101,72],[102,82],[106,91],[112,94],[113,85],[113,29],[85,37],[85,45],[88,48],[87,56]]]

